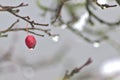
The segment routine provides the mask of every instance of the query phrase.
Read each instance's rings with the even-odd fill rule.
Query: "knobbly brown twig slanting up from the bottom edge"
[[[92,63],[92,59],[89,58],[81,67],[74,68],[70,73],[68,73],[68,71],[66,71],[65,76],[63,77],[62,80],[68,80],[68,79],[70,79],[75,74],[79,73],[84,67],[88,66],[91,63]]]

